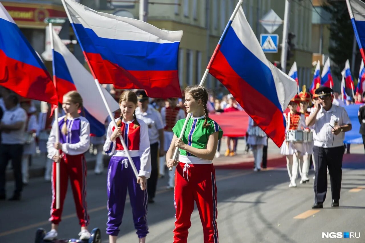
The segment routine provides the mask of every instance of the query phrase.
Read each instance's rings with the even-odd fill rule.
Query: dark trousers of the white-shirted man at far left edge
[[[22,181],[22,156],[23,144],[1,144],[0,145],[0,194],[5,194],[5,170],[11,160],[14,178],[14,194],[20,195],[23,188]]]

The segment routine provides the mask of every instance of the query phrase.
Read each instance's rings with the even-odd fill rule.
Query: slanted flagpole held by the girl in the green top
[[[238,1],[237,5],[236,5],[236,8],[234,9],[234,11],[233,11],[233,13],[231,15],[231,18],[229,19],[229,21],[228,21],[228,23],[226,25],[226,28],[224,29],[224,31],[222,33],[222,36],[220,36],[220,40],[218,42],[218,45],[215,47],[214,53],[213,53],[212,57],[210,58],[210,61],[209,61],[208,66],[207,66],[207,69],[205,69],[204,75],[201,78],[201,81],[200,81],[199,86],[203,86],[204,85],[205,79],[207,78],[208,73],[209,73],[210,66],[211,66],[211,64],[212,64],[212,62],[213,62],[216,54],[218,53],[218,51],[220,49],[220,43],[222,43],[223,40],[224,40],[224,38],[226,37],[227,30],[231,26],[232,21],[233,21],[234,17],[236,16],[237,12],[238,12],[239,7],[241,7],[241,5],[242,5],[242,2],[243,2],[243,0],[239,0]],[[189,121],[191,115],[192,115],[192,113],[188,113],[188,116],[185,119],[185,123],[184,123],[183,129],[180,132],[180,136],[179,136],[180,139],[183,138],[183,135],[185,133],[185,129],[186,129],[187,125],[188,125],[188,121]],[[176,161],[177,161],[177,157],[178,157],[178,151],[179,151],[179,148],[175,148],[174,155],[172,157]],[[170,167],[169,170],[172,171],[172,167]]]

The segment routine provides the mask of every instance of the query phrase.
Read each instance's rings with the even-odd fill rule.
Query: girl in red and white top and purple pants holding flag
[[[139,243],[145,243],[148,234],[146,181],[151,174],[150,140],[147,124],[137,119],[135,115],[137,101],[137,95],[132,91],[124,91],[120,95],[120,117],[115,120],[118,128],[114,127],[114,122],[109,124],[104,144],[105,153],[112,155],[107,182],[109,211],[107,234],[110,243],[116,243],[119,234],[127,188]],[[120,141],[120,135],[126,143],[126,148]],[[139,173],[138,179],[135,178],[132,167],[128,165],[126,150]],[[139,184],[142,185],[142,190]]]

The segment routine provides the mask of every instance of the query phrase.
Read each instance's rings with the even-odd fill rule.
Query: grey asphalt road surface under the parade
[[[283,163],[285,163],[283,161]],[[331,208],[328,189],[324,208],[313,211],[313,181],[288,188],[286,169],[251,170],[218,169],[218,230],[220,242],[365,242],[365,168],[344,169],[339,208]],[[313,173],[311,171],[311,173]],[[147,242],[172,242],[174,229],[173,191],[165,189],[167,178],[160,179],[154,204],[148,205]],[[328,183],[329,185],[329,183]],[[8,191],[14,188],[8,183]],[[8,196],[11,196],[9,193]],[[99,227],[103,242],[107,221],[106,174],[88,171],[87,204],[91,224]],[[51,187],[42,178],[32,179],[24,188],[22,201],[0,201],[0,242],[34,242],[38,227],[50,228]],[[300,218],[296,218],[300,217]],[[191,217],[188,242],[202,243],[202,228],[197,210]],[[76,238],[80,231],[72,192],[65,200],[61,238]],[[322,232],[356,232],[360,238],[323,239]],[[138,242],[132,223],[129,201],[126,204],[118,242]]]

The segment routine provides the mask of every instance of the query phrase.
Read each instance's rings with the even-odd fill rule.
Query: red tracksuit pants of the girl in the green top
[[[218,243],[217,188],[213,164],[197,165],[179,163],[175,172],[174,204],[176,221],[174,242],[185,243],[191,226],[190,216],[196,202],[204,243]]]

